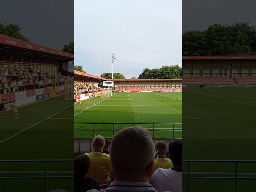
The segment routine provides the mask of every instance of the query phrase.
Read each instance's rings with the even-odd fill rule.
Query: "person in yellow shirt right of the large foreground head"
[[[166,152],[168,151],[166,143],[163,141],[157,141],[155,143],[155,149],[158,150],[158,154],[157,158],[154,160],[154,171],[158,168],[172,168],[172,161],[169,158],[166,158]]]

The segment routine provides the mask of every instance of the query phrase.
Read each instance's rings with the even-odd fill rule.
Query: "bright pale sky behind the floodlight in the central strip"
[[[100,76],[138,77],[144,68],[182,65],[181,0],[76,0],[75,65]]]

